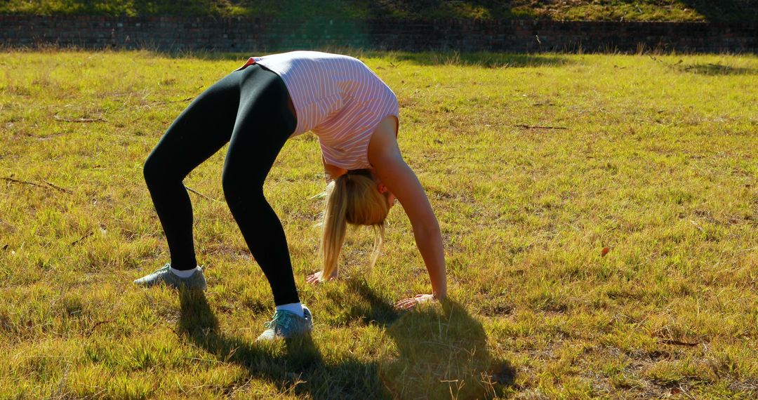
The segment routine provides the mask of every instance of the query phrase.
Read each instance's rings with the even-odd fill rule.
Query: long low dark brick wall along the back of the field
[[[758,52],[758,23],[266,20],[0,15],[0,45],[227,52],[324,48],[460,52]]]

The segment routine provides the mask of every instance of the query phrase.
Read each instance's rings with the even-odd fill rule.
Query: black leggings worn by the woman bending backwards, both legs
[[[263,196],[263,182],[295,131],[287,87],[253,64],[202,92],[171,124],[145,162],[155,211],[166,233],[171,267],[196,267],[193,213],[182,180],[229,142],[221,181],[224,196],[252,256],[265,273],[274,303],[299,302],[281,222]]]

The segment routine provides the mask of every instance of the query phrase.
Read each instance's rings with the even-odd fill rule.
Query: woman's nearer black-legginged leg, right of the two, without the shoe
[[[299,303],[287,238],[263,195],[263,183],[296,120],[287,108],[287,88],[260,66],[243,70],[240,108],[222,183],[229,208],[274,293],[274,303]]]

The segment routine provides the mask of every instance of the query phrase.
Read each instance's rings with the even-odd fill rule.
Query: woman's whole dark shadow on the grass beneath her
[[[393,339],[394,347],[376,349],[379,361],[345,355],[324,361],[309,335],[287,340],[283,351],[227,335],[199,291],[180,291],[177,333],[218,360],[244,367],[249,378],[312,398],[491,398],[513,386],[515,371],[507,361],[492,360],[481,323],[458,303],[402,312],[365,281],[347,285],[365,300],[349,309],[349,318],[377,324]]]

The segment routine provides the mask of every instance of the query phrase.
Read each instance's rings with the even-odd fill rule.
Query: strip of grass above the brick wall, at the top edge
[[[330,18],[539,18],[547,20],[758,21],[753,0],[9,0],[0,14],[214,15]]]

